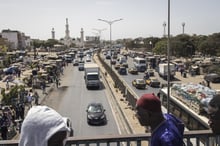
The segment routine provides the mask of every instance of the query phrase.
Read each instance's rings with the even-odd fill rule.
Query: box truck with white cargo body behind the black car
[[[100,69],[96,63],[85,63],[84,65],[84,79],[87,88],[100,88]]]

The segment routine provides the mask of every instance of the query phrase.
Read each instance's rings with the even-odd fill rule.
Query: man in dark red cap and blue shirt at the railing
[[[163,114],[160,99],[154,94],[142,95],[136,103],[137,118],[152,132],[150,146],[183,146],[184,124],[171,114]]]

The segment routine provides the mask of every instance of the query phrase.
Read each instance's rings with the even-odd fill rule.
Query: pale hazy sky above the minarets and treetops
[[[168,0],[1,0],[0,31],[18,30],[33,39],[97,36],[112,40],[162,37],[168,28]],[[220,0],[170,0],[170,34],[211,35],[220,32]],[[99,21],[114,21],[110,24]]]

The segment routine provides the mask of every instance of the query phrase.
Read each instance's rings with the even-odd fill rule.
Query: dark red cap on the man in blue
[[[151,112],[161,112],[160,99],[157,96],[155,96],[154,93],[143,94],[137,100],[136,106],[142,107],[143,109]]]

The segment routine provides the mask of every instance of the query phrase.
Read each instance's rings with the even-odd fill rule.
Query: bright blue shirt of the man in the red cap
[[[150,146],[183,146],[184,124],[171,114],[152,132]]]

